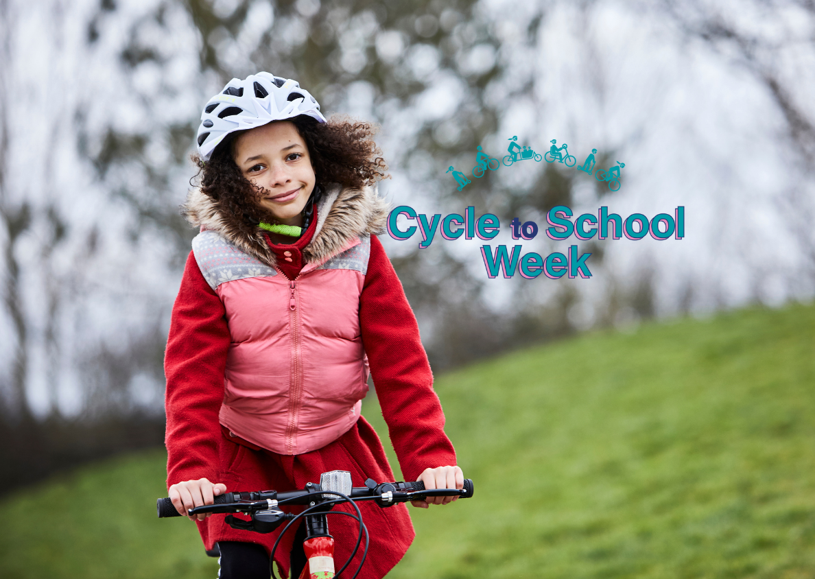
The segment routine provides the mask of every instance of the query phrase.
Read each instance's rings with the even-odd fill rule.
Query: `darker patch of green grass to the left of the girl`
[[[217,577],[195,524],[156,519],[166,460],[164,449],[119,457],[5,497],[0,577]]]

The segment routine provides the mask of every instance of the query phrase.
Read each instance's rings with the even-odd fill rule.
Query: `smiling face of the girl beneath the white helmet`
[[[315,175],[306,142],[289,121],[249,129],[236,139],[235,162],[262,191],[260,205],[280,223],[302,226]]]

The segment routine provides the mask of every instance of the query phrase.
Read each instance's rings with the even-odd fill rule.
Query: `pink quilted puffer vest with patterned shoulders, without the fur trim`
[[[280,454],[322,448],[349,431],[368,391],[359,294],[370,237],[359,236],[294,281],[202,231],[196,262],[227,311],[232,343],[220,422]]]

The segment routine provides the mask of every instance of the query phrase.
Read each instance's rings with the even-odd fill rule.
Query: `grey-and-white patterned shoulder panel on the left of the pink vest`
[[[277,271],[245,254],[216,232],[200,232],[192,240],[192,253],[213,290],[224,281],[276,276]]]

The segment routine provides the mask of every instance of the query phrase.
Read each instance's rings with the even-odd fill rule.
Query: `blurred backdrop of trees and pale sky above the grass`
[[[7,488],[161,446],[200,110],[258,70],[378,123],[381,193],[497,214],[493,246],[512,244],[513,217],[542,225],[556,205],[685,206],[681,241],[579,241],[588,280],[489,280],[478,243],[383,237],[436,373],[815,294],[811,0],[0,0],[0,62]],[[448,166],[470,175],[478,145],[500,159],[513,135],[541,154],[567,143],[578,163],[597,148],[597,168],[625,163],[622,187],[528,161],[456,190]]]

